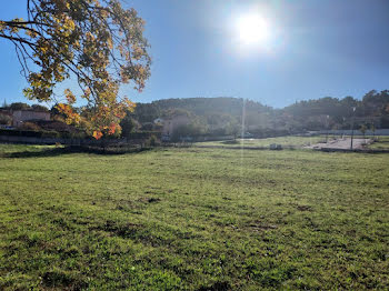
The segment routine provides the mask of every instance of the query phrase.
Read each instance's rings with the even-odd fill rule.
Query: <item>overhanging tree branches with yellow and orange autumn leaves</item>
[[[119,97],[121,83],[141,91],[150,74],[144,21],[119,0],[27,0],[28,19],[0,21],[0,38],[16,48],[28,99],[54,100],[68,123],[96,138],[120,131],[119,121],[134,103]],[[77,80],[80,96],[67,89],[57,100],[54,88]],[[81,113],[72,110],[86,100]]]

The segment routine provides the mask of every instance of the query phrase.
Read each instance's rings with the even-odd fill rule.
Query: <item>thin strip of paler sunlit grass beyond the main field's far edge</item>
[[[237,139],[236,141],[207,141],[197,142],[194,146],[218,146],[218,147],[245,147],[245,148],[262,148],[270,147],[272,143],[287,146],[287,147],[302,147],[318,143],[326,140],[326,137],[280,137],[268,139]]]

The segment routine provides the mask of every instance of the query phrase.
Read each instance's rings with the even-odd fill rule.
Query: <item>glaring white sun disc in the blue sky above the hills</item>
[[[263,44],[270,36],[267,21],[257,16],[242,16],[237,20],[236,29],[241,44]]]

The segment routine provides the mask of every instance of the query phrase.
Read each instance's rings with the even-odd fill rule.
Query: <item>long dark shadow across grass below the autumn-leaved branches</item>
[[[94,153],[94,154],[124,154],[124,153],[138,153],[142,151],[149,151],[153,148],[100,148],[100,147],[64,147],[56,149],[44,149],[40,151],[20,151],[20,152],[4,152],[0,153],[0,158],[43,158],[43,157],[58,157],[69,153]]]

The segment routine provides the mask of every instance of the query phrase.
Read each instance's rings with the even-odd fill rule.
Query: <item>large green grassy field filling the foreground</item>
[[[389,289],[389,154],[46,150],[0,144],[0,290]]]

